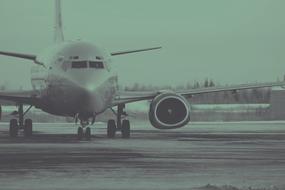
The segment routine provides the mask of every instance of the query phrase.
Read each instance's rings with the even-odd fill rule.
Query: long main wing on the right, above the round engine
[[[180,94],[185,97],[191,97],[193,95],[207,94],[207,93],[214,93],[214,92],[237,91],[237,90],[246,90],[246,89],[275,87],[275,86],[285,86],[285,82],[242,84],[242,85],[232,85],[232,86],[223,86],[223,87],[197,88],[197,89],[190,89],[186,91],[176,91],[175,93]],[[142,100],[151,100],[155,96],[163,92],[164,91],[119,92],[113,102],[113,106],[117,106],[119,104],[138,102]]]

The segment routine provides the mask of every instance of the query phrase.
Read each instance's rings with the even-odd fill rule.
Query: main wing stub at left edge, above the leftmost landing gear
[[[6,100],[15,103],[36,105],[39,100],[38,91],[11,91],[11,92],[0,92],[0,100]]]

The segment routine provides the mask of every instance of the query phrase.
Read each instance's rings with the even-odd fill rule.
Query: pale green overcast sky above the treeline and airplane
[[[284,0],[63,0],[66,40],[113,52],[123,85],[270,82],[285,73]],[[0,50],[39,54],[53,45],[54,2],[0,0]],[[30,87],[25,60],[0,56],[0,84]]]

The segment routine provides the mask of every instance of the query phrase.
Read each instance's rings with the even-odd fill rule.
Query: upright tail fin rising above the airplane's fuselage
[[[60,43],[64,41],[62,31],[61,0],[55,0],[55,26],[54,41]]]

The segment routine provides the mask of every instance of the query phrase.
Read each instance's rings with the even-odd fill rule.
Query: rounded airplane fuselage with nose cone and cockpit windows
[[[38,107],[54,115],[80,119],[104,112],[117,91],[110,55],[87,42],[57,44],[39,56],[44,66],[32,67],[32,86],[40,92]]]

